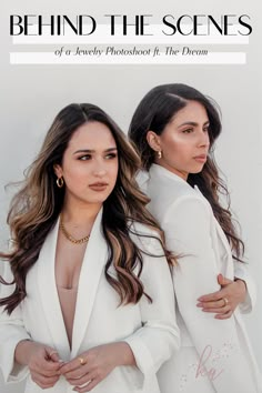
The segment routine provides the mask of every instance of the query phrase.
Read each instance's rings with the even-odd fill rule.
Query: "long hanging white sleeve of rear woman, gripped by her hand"
[[[180,256],[173,272],[178,308],[199,354],[199,366],[203,365],[198,377],[208,377],[210,372],[215,392],[251,392],[253,382],[242,353],[238,321],[234,316],[216,320],[196,308],[199,296],[219,290],[220,264],[212,243],[211,220],[209,204],[194,195],[177,200],[163,219],[168,249]]]

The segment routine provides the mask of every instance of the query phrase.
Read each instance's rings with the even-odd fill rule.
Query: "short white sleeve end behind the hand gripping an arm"
[[[242,313],[249,313],[253,311],[256,301],[255,283],[249,272],[249,265],[234,261],[234,276],[245,282],[245,300],[240,303],[239,308]]]

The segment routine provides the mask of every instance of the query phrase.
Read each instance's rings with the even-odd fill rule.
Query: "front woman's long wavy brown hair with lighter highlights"
[[[4,305],[9,314],[26,298],[27,274],[37,262],[44,239],[54,226],[63,206],[64,188],[57,187],[53,167],[61,164],[75,130],[83,123],[93,121],[110,129],[117,143],[119,160],[115,187],[103,203],[102,229],[109,249],[104,274],[119,293],[120,303],[137,303],[143,294],[151,301],[139,279],[143,268],[142,250],[130,236],[130,222],[137,221],[155,229],[155,238],[162,246],[164,239],[158,223],[145,209],[149,199],[135,182],[135,174],[141,167],[140,158],[105,112],[93,104],[73,103],[56,117],[39,155],[27,171],[22,188],[11,202],[7,221],[13,239],[13,249],[9,253],[0,253],[0,258],[9,261],[13,274],[12,283],[7,283],[0,276],[2,284],[14,284],[14,292],[0,300],[0,305]],[[171,262],[172,256],[164,246],[163,253]],[[117,278],[109,274],[111,264],[115,268]]]

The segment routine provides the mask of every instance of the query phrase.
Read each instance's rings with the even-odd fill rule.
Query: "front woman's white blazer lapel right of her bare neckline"
[[[78,299],[74,313],[71,357],[78,354],[92,312],[100,276],[104,271],[108,249],[101,232],[102,209],[90,234],[79,278]]]

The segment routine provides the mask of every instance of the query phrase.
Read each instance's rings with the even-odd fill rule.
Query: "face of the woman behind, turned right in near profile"
[[[154,150],[162,151],[157,163],[187,180],[189,173],[201,172],[209,152],[209,118],[198,101],[189,101],[165,125],[161,135],[148,134]],[[149,131],[150,133],[151,131]],[[152,145],[154,140],[159,148]]]

